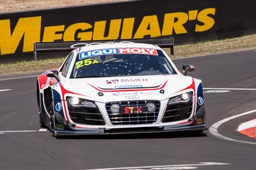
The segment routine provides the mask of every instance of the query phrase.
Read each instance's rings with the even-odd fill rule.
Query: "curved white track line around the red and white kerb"
[[[221,138],[221,139],[225,139],[225,140],[228,140],[228,141],[236,141],[236,142],[239,142],[239,143],[248,143],[248,144],[253,144],[253,145],[256,145],[255,142],[249,142],[249,141],[239,141],[239,140],[236,140],[236,139],[232,139],[232,138],[228,138],[226,136],[223,136],[221,135],[219,132],[218,132],[218,127],[220,127],[220,125],[224,124],[225,122],[228,122],[229,120],[232,120],[234,118],[237,118],[237,117],[243,117],[244,115],[249,115],[249,114],[252,114],[252,113],[255,113],[256,110],[251,110],[251,111],[246,111],[244,113],[241,113],[241,114],[238,114],[238,115],[234,115],[232,117],[228,117],[228,118],[225,118],[223,120],[220,120],[219,122],[216,122],[215,124],[211,125],[211,127],[209,128],[209,132],[213,135],[213,136],[216,136],[218,138]]]

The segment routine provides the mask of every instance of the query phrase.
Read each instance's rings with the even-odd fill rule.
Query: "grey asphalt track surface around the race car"
[[[173,61],[179,68],[195,66],[189,75],[202,79],[207,127],[256,109],[256,50]],[[256,113],[217,129],[228,139],[251,144],[209,131],[56,139],[39,127],[35,83],[35,76],[0,78],[0,169],[255,169],[256,140],[236,129]]]

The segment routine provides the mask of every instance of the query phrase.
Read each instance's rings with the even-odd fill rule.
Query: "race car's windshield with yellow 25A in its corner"
[[[147,49],[144,53],[114,50],[119,49],[78,53],[70,78],[175,74],[161,50],[151,50],[151,53],[147,53]]]

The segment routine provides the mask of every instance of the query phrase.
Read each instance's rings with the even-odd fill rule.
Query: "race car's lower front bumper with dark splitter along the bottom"
[[[107,111],[100,110],[103,113],[106,124],[103,125],[79,125],[74,123],[68,123],[62,116],[63,114],[54,112],[54,136],[71,136],[71,135],[86,135],[86,134],[137,134],[137,133],[152,133],[152,132],[177,132],[177,131],[204,131],[205,127],[205,107],[204,105],[198,107],[192,107],[189,111],[188,118],[184,117],[182,120],[173,122],[163,122],[163,118],[166,117],[166,110],[172,108],[166,108],[168,100],[162,101],[163,107],[159,107],[159,115],[155,122],[150,124],[129,124],[129,125],[114,125],[111,122]],[[104,108],[102,105],[100,108]],[[186,106],[186,108],[188,108]],[[67,108],[68,109],[68,108]],[[179,109],[180,110],[180,109]],[[168,111],[170,113],[170,111]],[[184,114],[184,113],[182,113]],[[170,117],[170,114],[167,115]],[[99,119],[97,120],[99,122]]]

